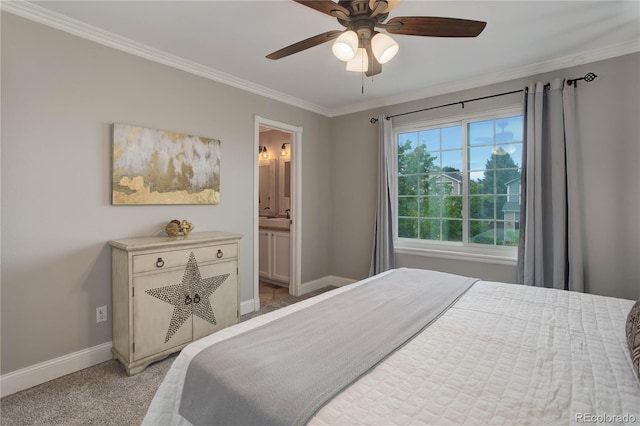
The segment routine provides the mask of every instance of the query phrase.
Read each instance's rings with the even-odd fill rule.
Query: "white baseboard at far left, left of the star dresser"
[[[75,373],[112,359],[112,342],[83,349],[0,376],[0,397]]]

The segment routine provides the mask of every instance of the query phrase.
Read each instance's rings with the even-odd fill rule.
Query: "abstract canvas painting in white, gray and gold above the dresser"
[[[113,204],[218,204],[220,141],[113,125]]]

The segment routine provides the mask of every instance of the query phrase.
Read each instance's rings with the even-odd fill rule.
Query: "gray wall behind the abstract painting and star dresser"
[[[327,117],[2,13],[2,373],[111,340],[113,238],[244,235],[242,300],[253,295],[254,115],[302,126],[302,282],[330,274]],[[112,206],[111,124],[222,141],[215,206]]]

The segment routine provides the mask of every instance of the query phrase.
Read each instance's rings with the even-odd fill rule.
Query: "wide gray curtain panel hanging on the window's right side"
[[[563,79],[525,90],[518,278],[584,291],[574,97]]]

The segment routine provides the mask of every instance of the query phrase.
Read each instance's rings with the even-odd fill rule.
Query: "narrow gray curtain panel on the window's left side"
[[[369,276],[393,269],[393,188],[392,177],[396,173],[393,161],[393,133],[391,120],[378,117],[378,201],[373,231],[373,250]]]

